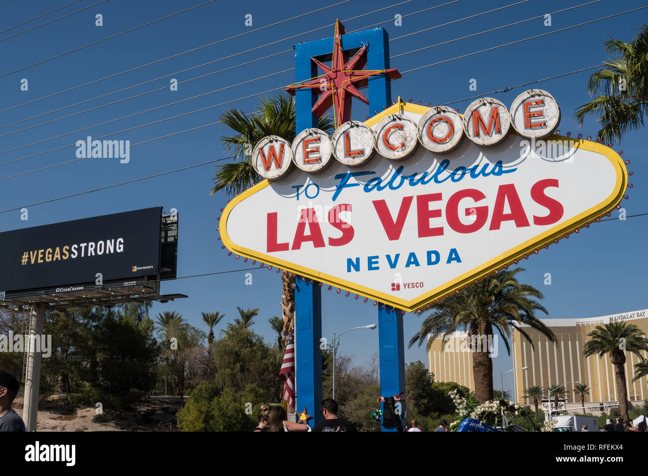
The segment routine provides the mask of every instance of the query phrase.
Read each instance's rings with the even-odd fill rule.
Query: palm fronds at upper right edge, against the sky
[[[612,56],[603,69],[590,76],[588,92],[594,97],[576,110],[579,126],[587,115],[598,115],[601,129],[597,140],[619,142],[623,134],[643,127],[648,115],[648,25],[642,25],[630,43],[608,40],[603,43]]]

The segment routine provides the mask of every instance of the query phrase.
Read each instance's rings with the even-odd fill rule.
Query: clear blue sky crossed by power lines
[[[93,3],[96,2],[83,0],[44,19],[0,34],[0,51],[3,58],[0,75],[178,12],[188,6],[198,5],[201,2],[199,0],[196,0],[195,3],[178,3],[168,0],[155,2],[109,0],[79,14],[16,38],[2,41],[10,34]],[[332,3],[336,2],[334,0],[328,3],[216,1],[82,51],[0,78],[2,91],[0,109],[10,108],[172,54],[242,34],[252,28],[262,27]],[[173,74],[170,77],[183,81],[290,49],[297,41],[327,38],[333,34],[332,27],[310,34],[302,35],[301,33],[334,23],[336,18],[344,20],[392,3],[397,2],[380,0],[377,3],[367,3],[353,0],[317,14],[283,23],[277,27],[246,34],[240,38],[183,54],[178,58],[121,74],[69,93],[2,112],[0,113],[0,126],[231,54],[235,54],[235,56],[186,73]],[[443,2],[441,0],[435,2],[437,5],[440,3]],[[475,0],[462,0],[452,5],[441,6],[428,12],[405,17],[402,19],[402,26],[395,26],[393,21],[384,24],[384,26],[388,30],[390,38],[396,38],[491,8],[509,5],[509,3],[514,3],[514,1],[498,0],[483,3]],[[499,12],[392,41],[390,44],[391,54],[408,52],[529,17],[544,15],[568,6],[579,5],[579,3],[581,2],[578,0],[570,2],[569,5],[557,0],[531,0]],[[44,0],[34,0],[29,3],[16,1],[5,3],[3,16],[0,20],[0,30],[64,4],[64,0],[56,3]],[[380,21],[393,19],[396,14],[406,16],[430,6],[432,6],[430,2],[413,0],[382,12],[346,21],[345,27],[347,31],[365,28]],[[406,71],[421,65],[454,58],[639,6],[643,6],[643,3],[638,0],[623,2],[603,0],[593,5],[552,16],[551,27],[544,26],[544,19],[536,19],[468,40],[454,41],[442,47],[400,56],[392,61],[391,67]],[[95,14],[103,15],[103,27],[95,26]],[[244,25],[246,14],[252,16],[252,27]],[[477,94],[486,95],[507,86],[597,65],[605,59],[605,53],[601,46],[603,41],[610,36],[630,41],[636,34],[637,28],[642,23],[648,23],[645,20],[647,17],[648,9],[405,74],[402,79],[392,84],[394,99],[400,95],[406,99],[411,97],[415,101],[421,100],[423,104],[427,102],[443,104]],[[294,40],[281,41],[270,47],[237,54],[296,34],[299,36]],[[293,66],[292,52],[284,53],[267,60],[237,67],[226,73],[213,74],[200,80],[180,84],[178,91],[170,91],[167,87],[167,89],[150,95],[1,137],[0,163],[62,146],[67,147],[30,159],[0,165],[0,210],[22,207],[41,200],[224,157],[226,154],[218,141],[218,136],[227,134],[229,131],[217,125],[133,146],[130,150],[130,163],[128,164],[121,164],[117,159],[86,159],[3,180],[3,177],[75,159],[76,148],[70,144],[85,139],[86,135],[98,137],[111,134],[108,139],[130,140],[131,144],[134,144],[214,122],[226,108],[236,107],[246,112],[251,111],[257,104],[256,97],[239,100],[227,106],[207,109],[178,119],[167,120],[154,126],[113,134],[116,131],[154,120],[206,108],[242,96],[257,95],[268,89],[291,84],[294,82],[294,72],[277,74],[263,80],[231,87],[218,93],[12,152],[2,153],[2,151],[145,109],[156,108],[163,104],[248,81]],[[571,119],[574,109],[588,100],[586,91],[588,74],[590,72],[573,74],[532,86],[550,91],[559,101],[562,108],[560,127],[562,133],[572,131],[574,136],[579,132],[585,136],[596,133],[597,128],[594,121],[589,120],[583,130],[578,130]],[[22,78],[29,80],[29,91],[20,90]],[[477,80],[476,92],[469,91],[469,82],[473,78]],[[0,128],[0,134],[137,93],[168,86],[168,84],[169,78],[163,78],[122,93],[64,109],[58,113]],[[511,104],[513,98],[523,90],[516,89],[494,96],[505,104]],[[456,102],[454,107],[463,111],[468,104],[469,101]],[[364,120],[367,114],[367,107],[364,104],[354,104],[354,119]],[[629,170],[634,172],[634,177],[631,177],[630,182],[634,183],[635,187],[630,190],[630,199],[623,202],[628,215],[648,212],[647,196],[645,188],[642,187],[643,177],[647,170],[641,152],[640,141],[643,137],[645,137],[645,132],[631,133],[623,141],[623,144],[614,144],[616,150],[624,151],[623,159],[631,160]],[[220,242],[216,241],[215,228],[218,226],[216,217],[220,216],[219,209],[224,207],[227,197],[222,193],[210,196],[213,174],[213,165],[201,166],[177,174],[30,207],[29,221],[21,221],[18,210],[0,213],[0,231],[145,207],[163,206],[165,210],[176,208],[180,216],[178,276],[243,269],[246,265],[242,260],[237,261],[233,256],[227,256],[226,251],[220,249]],[[540,255],[529,258],[527,262],[524,262],[527,271],[522,275],[522,278],[545,293],[544,304],[550,312],[550,317],[590,317],[647,308],[648,300],[645,297],[644,278],[648,261],[645,253],[644,234],[646,220],[648,217],[639,217],[594,225],[578,236],[573,236],[572,239],[564,240],[560,245],[551,247],[549,251],[543,251]],[[551,273],[551,286],[543,284],[545,273]],[[237,315],[236,306],[259,307],[261,313],[256,319],[257,323],[254,328],[264,335],[266,341],[270,342],[274,336],[266,319],[273,315],[281,315],[279,306],[281,280],[274,271],[266,269],[253,271],[253,275],[253,286],[245,286],[244,272],[165,282],[162,285],[164,293],[185,293],[189,295],[189,299],[168,304],[156,303],[153,313],[176,310],[192,325],[202,326],[200,312],[218,310],[226,313],[226,319],[221,323],[221,327],[224,327]],[[369,304],[364,304],[362,299],[354,300],[353,295],[347,298],[334,291],[324,291],[323,334],[332,336],[333,332],[339,333],[352,326],[375,323],[376,312],[371,301]],[[422,318],[417,315],[411,313],[406,315],[406,339],[409,339],[415,332],[421,320]],[[364,365],[377,350],[378,333],[371,330],[354,331],[345,335],[340,347],[343,354],[353,357],[353,365]],[[499,385],[499,372],[511,368],[511,359],[503,354],[505,353],[500,352],[500,357],[495,360],[496,386]],[[410,362],[416,359],[427,361],[423,348],[412,348],[406,351],[406,361]],[[505,383],[507,389],[511,387],[510,381],[509,379],[509,382]]]

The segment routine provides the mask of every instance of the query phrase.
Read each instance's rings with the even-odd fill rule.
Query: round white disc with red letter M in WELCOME
[[[496,146],[506,139],[510,130],[509,110],[496,99],[478,99],[463,114],[463,131],[478,146]]]

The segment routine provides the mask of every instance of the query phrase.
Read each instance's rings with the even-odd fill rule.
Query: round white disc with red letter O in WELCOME
[[[432,152],[452,152],[461,145],[463,137],[461,116],[452,108],[437,106],[419,120],[419,141]]]

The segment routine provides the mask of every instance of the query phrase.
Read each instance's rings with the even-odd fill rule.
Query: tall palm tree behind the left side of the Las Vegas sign
[[[234,130],[235,135],[221,136],[225,150],[231,150],[234,155],[233,163],[221,164],[216,168],[214,187],[215,194],[225,190],[233,195],[259,183],[262,178],[254,170],[251,163],[252,148],[266,135],[278,135],[292,142],[296,135],[295,99],[288,94],[279,94],[273,98],[263,98],[255,113],[246,115],[240,109],[229,109],[223,113],[223,124]],[[334,122],[332,117],[325,115],[319,119],[318,127],[332,133]],[[284,341],[287,342],[292,332],[295,315],[295,275],[284,271],[281,273],[281,309],[283,318]]]

